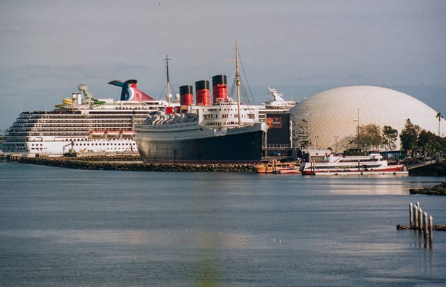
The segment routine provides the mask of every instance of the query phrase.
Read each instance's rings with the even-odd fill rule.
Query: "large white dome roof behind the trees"
[[[360,125],[373,123],[381,129],[390,125],[399,134],[410,118],[413,124],[438,134],[435,110],[410,95],[378,86],[345,86],[324,91],[303,100],[290,113],[296,123],[307,121],[313,148],[317,137],[317,148],[334,150],[335,136],[338,150],[349,148],[348,140],[356,137],[358,118]],[[444,119],[440,122],[441,134],[446,134]]]

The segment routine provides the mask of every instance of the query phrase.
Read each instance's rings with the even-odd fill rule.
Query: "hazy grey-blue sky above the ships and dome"
[[[441,0],[0,0],[0,129],[77,84],[118,99],[107,82],[138,79],[160,98],[166,54],[176,91],[213,75],[232,82],[236,40],[256,103],[268,86],[296,100],[367,84],[446,115],[445,31]]]

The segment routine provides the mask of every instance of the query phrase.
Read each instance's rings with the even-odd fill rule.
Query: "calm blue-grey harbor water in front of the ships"
[[[0,163],[1,286],[446,286],[446,178]]]

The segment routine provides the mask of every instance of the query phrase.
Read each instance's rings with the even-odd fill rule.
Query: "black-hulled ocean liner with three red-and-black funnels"
[[[260,162],[268,125],[259,120],[264,107],[240,104],[236,47],[237,101],[228,97],[226,75],[212,78],[213,103],[207,80],[180,86],[180,107],[153,111],[144,125],[135,125],[144,162]]]

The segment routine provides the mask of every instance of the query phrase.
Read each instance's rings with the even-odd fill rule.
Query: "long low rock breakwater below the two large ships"
[[[254,164],[164,164],[144,163],[138,156],[120,157],[23,157],[21,163],[116,171],[177,171],[177,172],[254,172]]]

